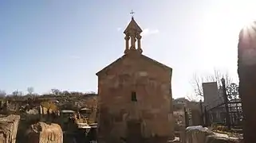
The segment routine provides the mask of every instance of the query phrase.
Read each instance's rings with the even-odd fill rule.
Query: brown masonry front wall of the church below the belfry
[[[171,102],[171,71],[136,57],[126,57],[100,75],[99,137],[126,137],[130,119],[142,122],[144,137],[171,137],[174,132]],[[131,100],[136,91],[137,102]]]

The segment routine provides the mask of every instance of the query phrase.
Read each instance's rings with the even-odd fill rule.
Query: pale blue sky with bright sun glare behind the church
[[[254,3],[255,4],[255,3]],[[173,68],[173,97],[190,95],[194,72],[228,70],[237,80],[237,42],[254,19],[251,2],[223,0],[0,2],[0,89],[96,91],[95,73],[124,53],[129,12],[142,48]]]

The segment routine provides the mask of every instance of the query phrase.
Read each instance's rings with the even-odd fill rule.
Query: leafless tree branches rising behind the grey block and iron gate
[[[195,95],[203,96],[203,83],[207,82],[217,82],[219,87],[221,87],[221,79],[224,78],[226,82],[226,86],[230,85],[232,82],[232,78],[230,75],[226,72],[220,72],[219,70],[215,69],[214,74],[206,75],[206,76],[199,76],[194,74],[193,79],[191,81],[191,85],[194,88]]]

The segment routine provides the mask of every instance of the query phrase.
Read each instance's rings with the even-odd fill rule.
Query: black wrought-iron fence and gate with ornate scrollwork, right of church
[[[225,82],[225,81],[224,81]],[[238,94],[238,85],[231,83],[226,87],[223,83],[223,102],[217,106],[207,109],[202,107],[203,119],[205,126],[212,123],[219,123],[227,126],[229,129],[242,127],[242,102]]]

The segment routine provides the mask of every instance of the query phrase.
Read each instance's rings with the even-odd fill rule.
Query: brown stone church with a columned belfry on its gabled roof
[[[124,30],[124,56],[97,72],[98,137],[173,137],[172,69],[142,54],[142,29],[132,17]]]

